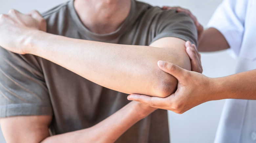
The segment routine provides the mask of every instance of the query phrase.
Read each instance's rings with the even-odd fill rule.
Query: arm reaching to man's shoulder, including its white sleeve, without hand
[[[207,24],[207,27],[211,28],[203,33],[199,45],[201,51],[231,48],[235,55],[239,55],[245,32],[247,2],[224,0],[219,5]]]

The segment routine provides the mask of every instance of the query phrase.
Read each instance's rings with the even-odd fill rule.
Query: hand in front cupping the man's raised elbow
[[[159,61],[158,66],[161,70],[178,79],[176,92],[166,98],[131,94],[127,97],[128,100],[138,101],[154,108],[171,110],[179,114],[210,101],[210,97],[207,95],[210,95],[214,89],[214,86],[211,85],[211,78],[164,61]]]

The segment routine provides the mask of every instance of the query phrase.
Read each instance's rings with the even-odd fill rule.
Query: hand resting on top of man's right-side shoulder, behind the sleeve
[[[175,9],[177,12],[183,12],[186,13],[188,16],[191,17],[191,19],[194,21],[196,27],[197,27],[197,40],[200,41],[203,34],[203,26],[197,21],[197,18],[188,10],[181,7],[162,7],[163,10],[169,10],[169,9]]]

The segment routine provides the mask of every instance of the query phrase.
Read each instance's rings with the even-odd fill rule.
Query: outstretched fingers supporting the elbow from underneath
[[[149,105],[154,108],[167,109],[170,110],[171,98],[160,98],[160,97],[151,97],[146,95],[131,94],[127,97],[128,100],[137,101],[146,105]]]

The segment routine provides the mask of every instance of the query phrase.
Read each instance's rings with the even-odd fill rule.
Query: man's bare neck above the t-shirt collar
[[[130,0],[75,0],[75,10],[82,23],[92,32],[114,32],[128,16]]]

